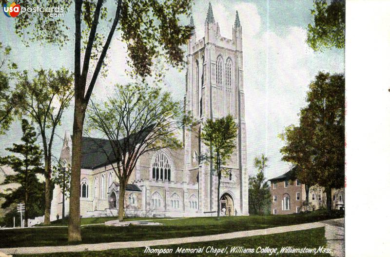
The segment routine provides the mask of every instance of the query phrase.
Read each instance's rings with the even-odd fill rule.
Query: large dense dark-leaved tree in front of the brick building
[[[331,189],[344,186],[345,78],[320,72],[309,85],[308,105],[301,109],[299,127],[286,130],[284,160],[299,166],[302,182],[325,188],[331,209]]]

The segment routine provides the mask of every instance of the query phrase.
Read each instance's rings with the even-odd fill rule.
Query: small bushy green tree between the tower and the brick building
[[[257,174],[249,178],[249,213],[269,214],[271,204],[270,187],[265,181],[264,170],[268,167],[268,158],[262,154],[261,157],[254,158],[254,166]]]

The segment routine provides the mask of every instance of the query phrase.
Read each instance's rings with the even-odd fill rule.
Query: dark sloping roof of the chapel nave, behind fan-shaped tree
[[[137,139],[139,142],[145,139],[152,131],[152,129],[153,125],[146,128],[142,134],[136,133],[130,135],[130,142],[135,145],[134,140]],[[124,138],[120,141],[123,143]],[[82,137],[81,155],[81,168],[83,169],[96,169],[116,161],[110,140],[104,138]]]

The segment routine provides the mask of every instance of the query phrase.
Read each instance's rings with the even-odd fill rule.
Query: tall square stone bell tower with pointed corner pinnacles
[[[191,17],[191,25],[194,26]],[[204,23],[204,37],[197,39],[195,29],[187,44],[186,110],[191,111],[195,123],[185,132],[185,166],[187,171],[197,169],[199,212],[217,210],[217,176],[212,165],[198,160],[209,149],[201,142],[202,123],[233,115],[238,125],[236,150],[227,169],[230,178],[222,179],[220,192],[234,202],[237,215],[248,215],[248,175],[246,170],[246,123],[243,89],[242,27],[235,13],[232,39],[220,34],[211,3]]]

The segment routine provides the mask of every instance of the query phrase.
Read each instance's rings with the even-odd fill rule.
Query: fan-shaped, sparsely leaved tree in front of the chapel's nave
[[[114,96],[102,104],[92,101],[88,128],[110,141],[112,150],[101,149],[119,180],[119,221],[123,220],[126,185],[138,159],[149,152],[181,146],[178,132],[188,121],[181,102],[145,82],[118,85]]]

